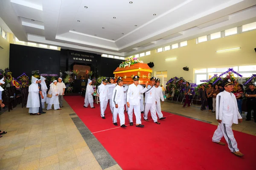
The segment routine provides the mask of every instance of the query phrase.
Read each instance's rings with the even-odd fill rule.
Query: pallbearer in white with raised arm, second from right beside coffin
[[[144,120],[148,122],[148,112],[150,111],[151,117],[156,124],[160,124],[157,121],[157,113],[156,113],[156,88],[154,88],[156,82],[155,77],[151,77],[150,85],[145,84],[145,110],[144,110]]]

